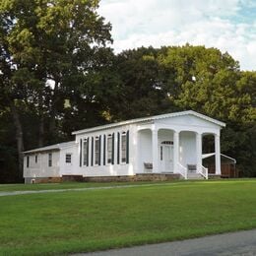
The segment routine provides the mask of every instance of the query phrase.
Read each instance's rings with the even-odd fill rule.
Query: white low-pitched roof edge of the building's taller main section
[[[96,127],[93,127],[93,128],[88,128],[88,129],[83,129],[83,130],[75,131],[72,134],[73,135],[77,135],[77,134],[82,134],[82,133],[88,133],[88,132],[94,132],[94,131],[98,131],[98,130],[114,128],[114,127],[123,126],[123,125],[129,125],[129,124],[141,123],[141,122],[151,122],[151,121],[154,121],[154,120],[171,118],[171,117],[176,117],[176,116],[183,116],[183,115],[194,115],[194,116],[197,116],[197,117],[199,117],[201,119],[209,121],[211,123],[217,124],[219,126],[222,126],[222,127],[225,126],[224,122],[221,122],[221,121],[219,121],[217,119],[214,119],[212,117],[209,117],[207,115],[200,114],[200,113],[198,113],[196,111],[188,110],[188,111],[182,111],[182,112],[167,113],[167,114],[160,114],[160,115],[136,118],[136,119],[131,119],[131,120],[122,121],[122,122],[118,122],[118,123],[111,123],[111,124],[106,124],[106,125],[100,125],[100,126],[96,126]]]

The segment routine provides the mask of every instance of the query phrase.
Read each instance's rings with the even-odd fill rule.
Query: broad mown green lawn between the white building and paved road
[[[0,206],[0,255],[63,255],[254,228],[256,180],[6,196]]]

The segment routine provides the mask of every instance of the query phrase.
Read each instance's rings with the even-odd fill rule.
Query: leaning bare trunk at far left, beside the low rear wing
[[[23,127],[20,119],[20,115],[14,102],[11,102],[11,112],[13,115],[14,125],[16,128],[16,142],[17,142],[17,152],[18,152],[18,163],[19,163],[19,178],[23,178],[23,159],[24,159],[24,136]]]

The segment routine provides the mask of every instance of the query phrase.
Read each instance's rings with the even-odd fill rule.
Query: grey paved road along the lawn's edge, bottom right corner
[[[183,241],[166,242],[108,250],[77,256],[169,256],[169,255],[256,255],[256,229],[211,235]]]

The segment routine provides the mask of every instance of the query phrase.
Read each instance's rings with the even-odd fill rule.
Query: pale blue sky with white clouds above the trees
[[[256,70],[256,0],[101,0],[115,52],[142,45],[206,45]]]

